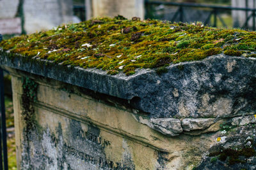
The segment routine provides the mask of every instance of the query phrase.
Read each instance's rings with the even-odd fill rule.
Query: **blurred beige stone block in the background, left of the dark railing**
[[[126,18],[144,18],[143,0],[86,0],[86,17],[115,17],[123,15]]]

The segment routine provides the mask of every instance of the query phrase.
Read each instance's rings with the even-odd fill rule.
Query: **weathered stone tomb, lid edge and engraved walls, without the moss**
[[[255,145],[253,58],[220,54],[161,76],[6,52],[0,64],[12,74],[19,169],[214,169],[214,154]],[[248,157],[235,166],[255,166]]]

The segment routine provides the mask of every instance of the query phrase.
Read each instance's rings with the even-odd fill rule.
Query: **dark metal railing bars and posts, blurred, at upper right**
[[[172,3],[172,2],[161,2],[161,1],[148,1],[145,0],[145,10],[146,15],[145,18],[154,18],[154,15],[152,15],[152,12],[154,12],[153,6],[175,6],[178,9],[175,11],[172,19],[170,21],[174,22],[175,20],[179,20],[180,22],[187,22],[185,17],[185,10],[184,8],[198,8],[199,10],[207,10],[209,11],[209,15],[207,18],[203,21],[205,25],[211,25],[213,27],[218,26],[217,20],[219,19],[221,24],[224,27],[227,27],[227,24],[223,20],[223,18],[220,15],[220,12],[223,11],[244,11],[246,12],[246,18],[243,26],[241,28],[248,29],[249,28],[249,21],[252,19],[252,27],[253,31],[256,29],[256,22],[255,22],[255,8],[240,8],[240,7],[232,7],[232,6],[216,6],[216,5],[207,5],[207,4],[195,4],[195,3]],[[248,12],[250,12],[250,15],[248,15]],[[211,23],[211,18],[213,17],[213,23]]]

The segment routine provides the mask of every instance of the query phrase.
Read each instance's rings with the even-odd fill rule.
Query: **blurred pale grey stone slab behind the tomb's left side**
[[[23,8],[28,33],[52,29],[73,20],[72,0],[26,0]]]

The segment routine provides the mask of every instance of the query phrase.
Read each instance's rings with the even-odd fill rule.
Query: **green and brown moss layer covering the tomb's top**
[[[218,53],[255,57],[251,52],[256,50],[256,32],[118,16],[15,37],[2,41],[0,47],[31,59],[129,75],[136,68],[163,71],[172,63]]]

